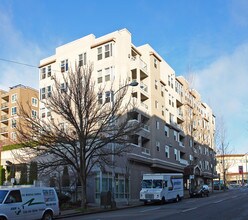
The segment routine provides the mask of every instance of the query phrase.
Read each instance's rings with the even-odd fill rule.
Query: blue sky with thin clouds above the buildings
[[[38,89],[39,61],[56,47],[123,28],[177,76],[194,75],[217,127],[224,121],[230,152],[247,153],[247,0],[0,0],[0,88]]]

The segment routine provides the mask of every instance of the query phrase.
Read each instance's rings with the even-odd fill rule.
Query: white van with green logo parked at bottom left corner
[[[59,214],[59,201],[54,188],[12,187],[0,189],[0,220],[49,220]]]

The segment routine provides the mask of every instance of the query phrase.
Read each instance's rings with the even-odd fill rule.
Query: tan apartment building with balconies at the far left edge
[[[0,106],[0,144],[16,143],[16,126],[21,120],[19,108],[22,106],[30,115],[38,116],[39,92],[23,85],[10,87],[8,92],[0,90]]]

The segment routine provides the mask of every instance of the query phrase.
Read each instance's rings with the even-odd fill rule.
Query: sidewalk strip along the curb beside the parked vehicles
[[[217,194],[224,192],[223,190],[214,190],[214,192],[210,194]],[[189,199],[189,192],[187,190],[184,191],[184,199]],[[99,204],[95,203],[90,203],[88,204],[87,210],[84,212],[80,211],[79,209],[69,209],[69,210],[62,210],[61,215],[57,217],[57,219],[63,219],[63,218],[70,218],[72,216],[79,216],[79,215],[86,215],[90,213],[99,213],[99,212],[107,212],[107,211],[112,211],[112,210],[118,210],[118,209],[127,209],[127,208],[132,208],[132,207],[138,207],[142,206],[144,203],[140,201],[130,201],[129,204],[127,202],[119,202],[116,204],[115,208],[111,208],[110,206],[104,207],[100,206]]]

